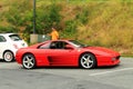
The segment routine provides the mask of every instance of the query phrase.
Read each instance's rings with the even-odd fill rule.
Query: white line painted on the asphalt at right
[[[133,70],[133,68],[124,68],[124,69],[117,69],[117,70],[112,70],[112,71],[91,73],[89,76],[100,76],[100,75],[106,75],[106,73],[112,73],[112,72],[117,72],[117,71],[125,71],[125,70],[131,70],[131,69]]]

